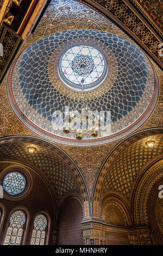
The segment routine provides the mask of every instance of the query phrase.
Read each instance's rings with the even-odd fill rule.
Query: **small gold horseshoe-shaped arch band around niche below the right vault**
[[[123,219],[124,227],[131,227],[132,220],[129,208],[127,206],[127,203],[125,200],[118,195],[118,193],[115,192],[109,192],[108,195],[105,196],[105,198],[101,202],[101,218],[104,218],[104,211],[107,209],[108,205],[114,205],[119,209],[121,219]],[[116,224],[116,223],[107,223],[107,224]]]

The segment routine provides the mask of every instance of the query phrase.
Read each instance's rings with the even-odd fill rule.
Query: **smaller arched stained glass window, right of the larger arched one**
[[[46,238],[47,218],[43,214],[39,214],[34,220],[34,229],[30,245],[44,245]]]

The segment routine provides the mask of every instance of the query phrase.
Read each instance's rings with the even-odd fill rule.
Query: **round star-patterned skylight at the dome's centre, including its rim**
[[[102,84],[108,74],[108,63],[101,51],[88,45],[77,45],[66,50],[58,62],[61,81],[72,90],[90,91]]]

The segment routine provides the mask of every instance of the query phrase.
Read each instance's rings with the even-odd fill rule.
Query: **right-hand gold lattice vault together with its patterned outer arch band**
[[[120,145],[111,150],[98,171],[93,205],[94,216],[99,216],[101,201],[110,191],[121,194],[130,207],[134,180],[140,175],[142,166],[163,153],[162,131],[161,128],[153,128],[137,132],[135,136],[131,135],[127,140],[124,139]],[[155,147],[147,147],[147,140],[154,140]]]

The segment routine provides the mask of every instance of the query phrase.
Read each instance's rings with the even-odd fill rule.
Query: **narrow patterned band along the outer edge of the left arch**
[[[72,171],[74,177],[76,178],[76,180],[79,184],[79,189],[81,191],[82,200],[84,202],[86,202],[86,203],[84,203],[84,205],[87,206],[87,209],[84,211],[85,212],[84,214],[85,214],[85,217],[89,217],[89,215],[90,215],[89,189],[87,188],[87,183],[85,181],[84,175],[83,175],[82,171],[80,170],[80,168],[78,167],[78,165],[76,164],[76,162],[74,162],[74,160],[64,150],[62,150],[59,146],[57,146],[57,145],[53,144],[52,142],[49,142],[45,139],[36,138],[35,136],[29,136],[29,135],[5,136],[3,138],[0,138],[0,145],[3,145],[4,143],[13,143],[14,141],[16,141],[17,143],[19,141],[21,141],[23,143],[28,142],[30,144],[46,147],[46,148],[48,148],[48,151],[54,152],[59,158],[62,157],[62,159],[64,159],[65,163],[68,165],[68,168],[70,169],[70,171]],[[12,159],[12,160],[16,160],[16,159]],[[28,163],[28,161],[26,164],[31,165],[31,163],[30,162]],[[34,167],[34,166],[32,166],[32,167]],[[45,174],[44,174],[44,176],[45,176]]]

